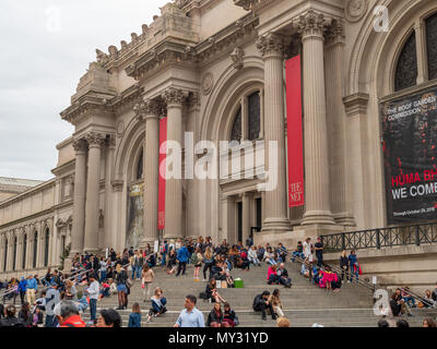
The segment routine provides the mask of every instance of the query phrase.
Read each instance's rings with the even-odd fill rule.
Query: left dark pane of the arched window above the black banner
[[[398,59],[394,88],[401,91],[417,83],[417,53],[416,53],[416,34],[410,35],[405,41],[401,55]]]

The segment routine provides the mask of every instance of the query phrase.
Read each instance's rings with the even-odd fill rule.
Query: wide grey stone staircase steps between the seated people
[[[373,311],[373,293],[370,290],[356,284],[343,282],[341,291],[327,292],[310,284],[307,278],[299,274],[300,265],[297,263],[287,262],[285,267],[292,278],[293,286],[287,289],[283,286],[267,285],[265,263],[261,267],[250,267],[250,272],[241,269],[233,269],[234,278],[241,278],[245,288],[236,289],[218,289],[218,293],[231,304],[232,309],[238,315],[241,327],[268,327],[276,326],[276,322],[272,321],[268,315],[268,320],[263,321],[260,313],[252,310],[253,298],[264,290],[272,292],[275,288],[281,291],[281,300],[285,316],[290,318],[292,327],[310,327],[314,324],[319,324],[324,327],[375,327],[380,316],[376,316]],[[122,317],[122,326],[128,326],[129,314],[134,302],[139,302],[142,311],[143,327],[172,327],[184,309],[185,297],[194,294],[205,290],[206,282],[192,279],[192,267],[187,268],[184,276],[176,277],[167,275],[161,267],[155,267],[155,281],[152,285],[152,290],[155,287],[161,287],[164,296],[167,298],[168,312],[153,317],[151,323],[145,323],[146,314],[151,308],[151,302],[143,302],[141,282],[135,281],[129,296],[128,309],[119,311]],[[202,270],[201,270],[202,274]],[[153,291],[151,296],[153,294]],[[104,298],[97,303],[97,313],[102,309],[118,306],[117,294],[110,298]],[[198,298],[197,308],[202,311],[205,321],[208,314],[213,308],[213,304]],[[413,309],[414,316],[406,317],[411,326],[422,326],[424,317],[436,316],[436,311]],[[85,321],[90,320],[90,311],[86,310],[83,314]]]

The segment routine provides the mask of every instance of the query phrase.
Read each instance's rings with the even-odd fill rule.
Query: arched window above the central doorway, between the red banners
[[[245,112],[244,112],[245,110]],[[231,129],[231,141],[256,141],[260,137],[261,130],[261,98],[256,91],[246,95],[237,109]]]

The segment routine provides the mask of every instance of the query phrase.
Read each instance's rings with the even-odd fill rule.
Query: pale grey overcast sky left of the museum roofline
[[[54,177],[56,145],[73,133],[59,113],[95,49],[130,43],[167,2],[0,0],[0,177]]]

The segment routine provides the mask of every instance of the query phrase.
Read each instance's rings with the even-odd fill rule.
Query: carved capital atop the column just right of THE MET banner
[[[309,38],[323,40],[323,34],[331,23],[331,17],[311,9],[296,19],[293,24],[302,35],[302,40],[305,41]]]

